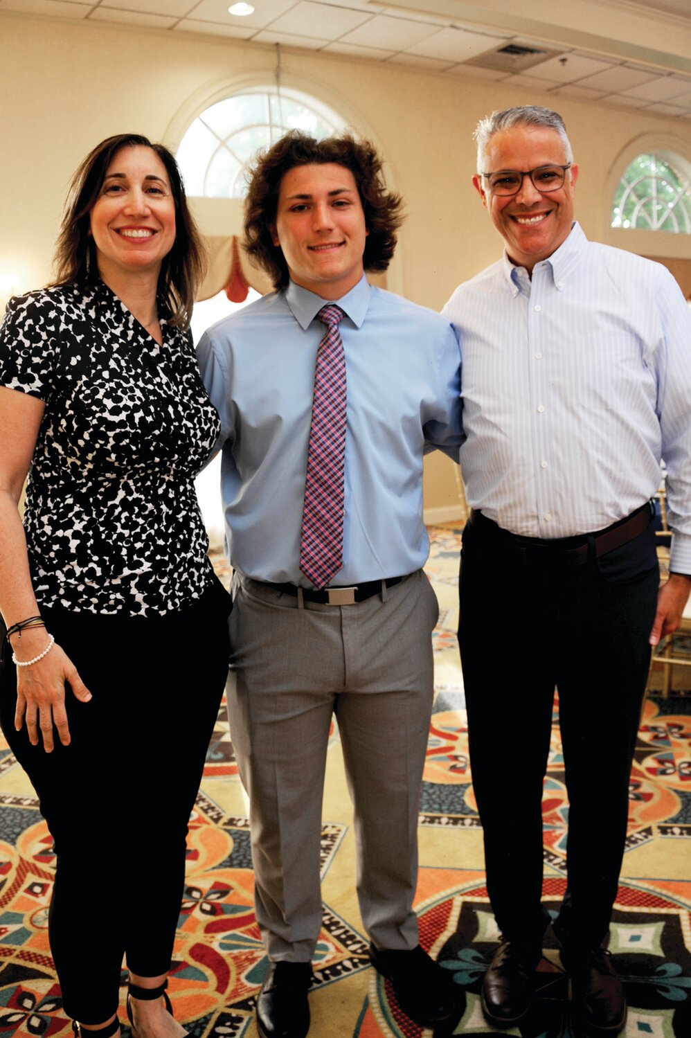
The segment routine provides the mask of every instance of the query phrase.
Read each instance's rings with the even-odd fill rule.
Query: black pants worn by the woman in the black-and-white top
[[[230,600],[155,618],[44,608],[89,703],[66,690],[72,742],[46,754],[15,731],[16,668],[6,651],[0,721],[55,841],[51,951],[65,1013],[101,1023],[117,1009],[122,957],[143,977],[170,966],[188,820],[228,665]]]

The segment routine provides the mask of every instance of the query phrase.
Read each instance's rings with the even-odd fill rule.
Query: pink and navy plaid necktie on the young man
[[[327,330],[314,371],[300,569],[313,584],[324,588],[343,564],[346,356],[338,330],[341,308],[329,303],[317,317]]]

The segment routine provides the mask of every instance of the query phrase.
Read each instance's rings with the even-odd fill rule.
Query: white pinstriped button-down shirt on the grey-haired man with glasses
[[[691,311],[671,274],[575,223],[532,279],[504,255],[442,313],[471,507],[527,537],[591,532],[655,494],[664,458],[671,569],[691,574]]]

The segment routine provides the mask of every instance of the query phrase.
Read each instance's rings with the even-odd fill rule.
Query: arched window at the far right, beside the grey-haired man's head
[[[612,227],[691,235],[691,165],[673,152],[638,155],[624,171]]]

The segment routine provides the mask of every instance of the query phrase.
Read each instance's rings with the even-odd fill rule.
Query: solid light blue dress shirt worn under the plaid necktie
[[[368,284],[326,300],[291,282],[219,322],[197,348],[221,417],[226,550],[247,576],[309,586],[300,530],[316,317],[336,302],[347,370],[343,566],[332,585],[412,573],[429,551],[422,455],[458,460],[459,345],[432,310]]]

